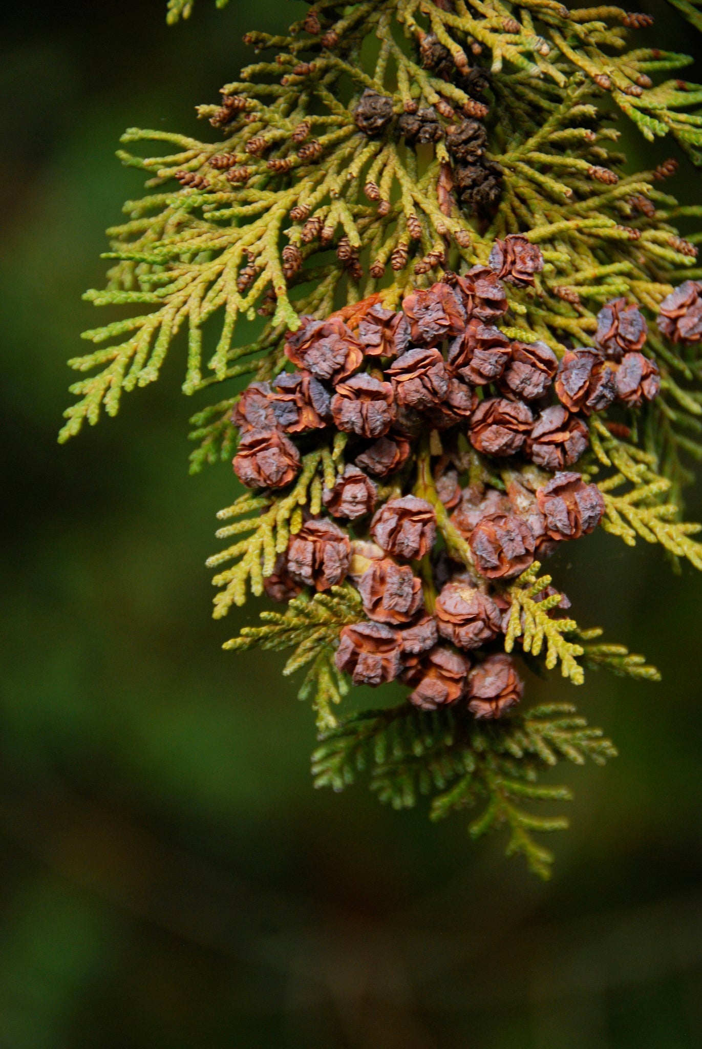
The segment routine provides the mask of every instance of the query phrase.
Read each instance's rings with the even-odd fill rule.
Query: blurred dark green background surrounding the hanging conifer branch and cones
[[[312,789],[313,718],[281,660],[219,648],[254,612],[209,618],[204,561],[236,488],[227,466],[188,477],[207,398],[179,394],[182,345],[116,420],[56,444],[64,362],[98,322],[81,293],[141,191],[119,135],[213,133],[193,107],[248,61],[243,30],[304,4],[243,8],[201,2],[170,29],[161,0],[3,16],[0,1046],[702,1046],[692,569],[604,534],[554,561],[578,620],[664,682],[530,681],[534,702],[577,699],[621,751],[565,773],[573,829],[543,885],[461,817]],[[658,46],[689,48],[677,14],[646,9]],[[671,188],[699,200],[699,173]]]

